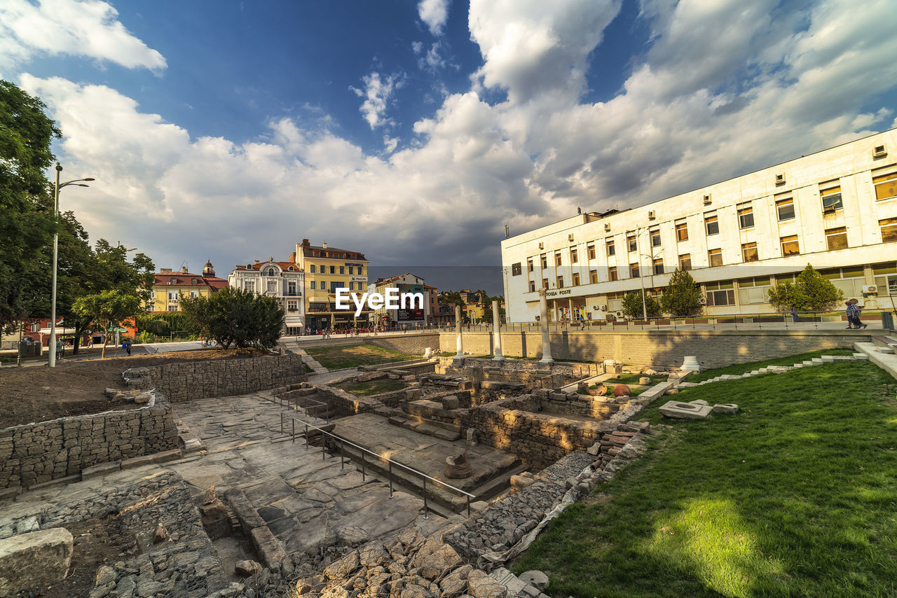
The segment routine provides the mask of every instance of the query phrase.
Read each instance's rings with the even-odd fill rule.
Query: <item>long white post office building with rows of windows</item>
[[[865,308],[897,295],[897,129],[696,189],[577,214],[501,241],[509,321],[617,316],[675,269],[701,284],[705,313],[771,313],[766,290],[806,267]]]

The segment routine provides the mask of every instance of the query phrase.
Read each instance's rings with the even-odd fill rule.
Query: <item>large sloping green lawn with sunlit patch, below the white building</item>
[[[578,598],[895,596],[895,391],[868,362],[685,389],[677,399],[742,412],[666,420],[648,454],[512,569],[541,569],[546,594]],[[665,421],[663,403],[638,419]]]

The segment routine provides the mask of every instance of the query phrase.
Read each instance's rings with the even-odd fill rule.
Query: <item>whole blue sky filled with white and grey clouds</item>
[[[93,240],[226,276],[309,238],[500,292],[505,225],[897,126],[894,30],[893,0],[0,0],[0,78],[96,178],[60,195]]]

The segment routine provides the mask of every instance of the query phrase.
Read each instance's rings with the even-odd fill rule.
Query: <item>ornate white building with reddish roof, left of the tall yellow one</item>
[[[302,297],[305,274],[294,262],[255,261],[254,264],[238,265],[227,277],[234,289],[252,290],[262,295],[274,297],[284,312],[283,334],[299,335],[305,328],[305,301]]]

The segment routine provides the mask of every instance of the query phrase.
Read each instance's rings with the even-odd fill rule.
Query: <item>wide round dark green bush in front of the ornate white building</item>
[[[182,297],[180,309],[187,330],[211,338],[222,349],[271,349],[283,330],[283,308],[277,300],[251,290],[227,287],[209,297]]]

